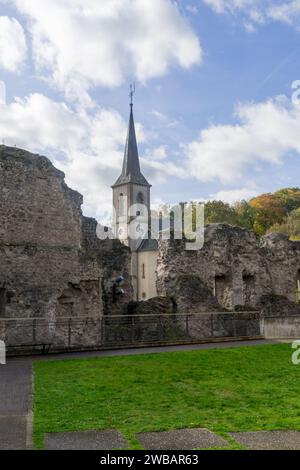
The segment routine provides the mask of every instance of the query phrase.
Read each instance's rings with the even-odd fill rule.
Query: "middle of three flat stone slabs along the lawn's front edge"
[[[137,434],[146,450],[193,450],[226,447],[227,442],[207,429],[176,429],[175,431]]]

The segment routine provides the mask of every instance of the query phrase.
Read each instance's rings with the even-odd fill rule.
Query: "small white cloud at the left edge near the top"
[[[22,26],[15,18],[0,16],[0,67],[18,72],[27,57]]]

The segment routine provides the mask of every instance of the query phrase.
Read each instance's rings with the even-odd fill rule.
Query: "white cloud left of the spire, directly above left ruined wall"
[[[1,140],[51,158],[94,216],[111,211],[110,184],[120,173],[126,128],[113,110],[75,113],[40,94],[1,106]]]

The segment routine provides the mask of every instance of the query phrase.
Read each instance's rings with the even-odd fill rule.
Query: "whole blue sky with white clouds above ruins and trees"
[[[299,0],[0,0],[0,138],[48,156],[101,218],[135,81],[154,202],[299,186],[299,30]]]

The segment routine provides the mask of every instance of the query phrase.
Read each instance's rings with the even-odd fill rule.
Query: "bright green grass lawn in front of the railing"
[[[88,429],[119,429],[133,449],[143,431],[300,430],[291,353],[278,344],[36,362],[35,446],[47,432]]]

